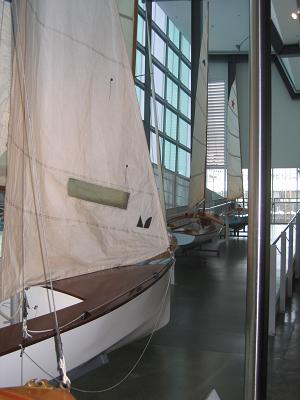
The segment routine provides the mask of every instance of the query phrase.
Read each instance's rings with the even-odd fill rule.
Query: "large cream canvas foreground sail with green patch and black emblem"
[[[1,299],[169,246],[115,2],[17,0],[13,26]]]

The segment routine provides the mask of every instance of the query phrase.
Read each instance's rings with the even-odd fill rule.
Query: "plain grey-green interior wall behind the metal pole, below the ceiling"
[[[248,64],[237,64],[237,92],[243,168],[249,165]],[[272,65],[272,167],[300,167],[300,101],[292,100],[275,65]]]

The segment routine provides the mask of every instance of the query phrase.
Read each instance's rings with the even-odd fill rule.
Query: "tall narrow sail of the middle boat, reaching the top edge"
[[[200,203],[205,196],[207,80],[208,80],[208,2],[203,2],[203,32],[195,101],[192,141],[189,207]]]

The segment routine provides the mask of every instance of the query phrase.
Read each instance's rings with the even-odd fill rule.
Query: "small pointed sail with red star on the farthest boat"
[[[227,198],[243,197],[243,177],[241,164],[241,146],[239,112],[234,80],[230,89],[227,108]]]

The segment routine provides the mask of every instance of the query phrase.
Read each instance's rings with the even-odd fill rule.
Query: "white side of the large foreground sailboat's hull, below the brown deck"
[[[166,325],[170,319],[170,274],[171,270],[146,291],[112,312],[63,333],[61,337],[67,369],[73,370],[98,354],[143,337],[155,327],[159,329]],[[63,307],[63,304],[58,304],[58,308]],[[58,375],[53,338],[31,345],[25,351],[50,376]],[[45,376],[39,367],[23,355],[21,382],[21,362],[20,351],[0,357],[0,386],[20,385],[33,378],[49,379],[49,376]]]

